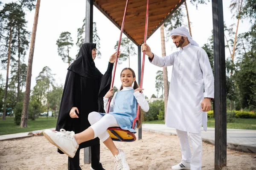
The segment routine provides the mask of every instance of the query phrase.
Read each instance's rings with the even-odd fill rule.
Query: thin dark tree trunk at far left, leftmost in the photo
[[[10,57],[11,57],[11,41],[12,41],[12,23],[10,25],[10,37],[9,37],[7,73],[6,73],[6,89],[5,89],[4,102],[3,102],[4,103],[4,105],[3,105],[3,120],[6,119],[6,99],[7,99],[7,91],[8,91],[9,65],[10,65]]]

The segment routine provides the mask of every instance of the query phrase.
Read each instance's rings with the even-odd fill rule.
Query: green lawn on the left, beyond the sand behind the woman
[[[0,135],[12,134],[12,133],[20,133],[20,132],[31,132],[33,130],[47,129],[56,127],[57,119],[55,117],[39,117],[34,121],[29,120],[28,127],[21,128],[14,124],[13,117],[6,117],[6,120],[2,120],[0,117]]]

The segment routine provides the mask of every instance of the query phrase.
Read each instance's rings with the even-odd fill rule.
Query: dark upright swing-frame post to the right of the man
[[[222,0],[212,0],[215,75],[215,170],[227,166],[226,65]]]

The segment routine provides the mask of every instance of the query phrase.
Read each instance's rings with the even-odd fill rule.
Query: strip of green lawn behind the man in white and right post
[[[165,124],[163,120],[153,120],[153,121],[146,121],[144,123],[154,123],[154,124]],[[215,127],[215,119],[208,118],[207,122],[208,127]],[[235,119],[233,123],[227,123],[227,128],[229,129],[250,129],[256,130],[256,119]]]

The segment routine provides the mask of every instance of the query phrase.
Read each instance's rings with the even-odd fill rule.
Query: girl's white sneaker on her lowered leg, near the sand
[[[114,170],[130,170],[129,165],[126,163],[126,160],[125,160],[124,151],[121,149],[118,149],[118,150],[119,150],[119,154],[114,157],[115,158]]]

